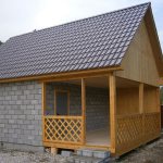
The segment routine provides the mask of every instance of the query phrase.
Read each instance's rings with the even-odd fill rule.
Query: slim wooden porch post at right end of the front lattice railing
[[[82,78],[82,116],[83,116],[83,145],[86,142],[86,84]]]

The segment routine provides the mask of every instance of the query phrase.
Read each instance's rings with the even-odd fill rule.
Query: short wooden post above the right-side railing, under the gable
[[[139,84],[139,113],[142,114],[143,111],[143,84]]]

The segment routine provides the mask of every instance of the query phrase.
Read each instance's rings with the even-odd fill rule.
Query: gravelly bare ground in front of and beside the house
[[[163,163],[163,133],[160,139],[140,147],[116,161],[117,163]],[[67,163],[66,158],[50,153],[34,153],[0,149],[0,163]]]

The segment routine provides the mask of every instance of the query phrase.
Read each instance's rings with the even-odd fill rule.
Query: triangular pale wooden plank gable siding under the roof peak
[[[159,72],[145,21],[141,22],[116,76],[158,86]]]

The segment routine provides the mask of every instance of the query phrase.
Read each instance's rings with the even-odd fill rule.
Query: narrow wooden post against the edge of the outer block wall
[[[42,83],[41,87],[41,93],[42,93],[42,140],[45,141],[45,111],[46,111],[46,83]]]

